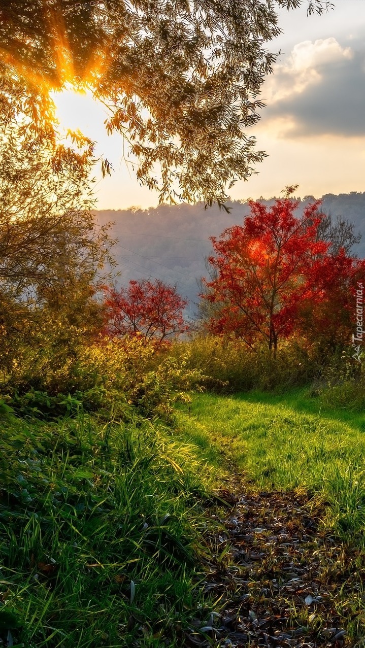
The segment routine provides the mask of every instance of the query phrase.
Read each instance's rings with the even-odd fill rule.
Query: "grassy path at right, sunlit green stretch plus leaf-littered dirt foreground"
[[[179,419],[222,495],[238,495],[207,533],[220,616],[189,645],[364,646],[365,415],[301,390],[196,395]]]

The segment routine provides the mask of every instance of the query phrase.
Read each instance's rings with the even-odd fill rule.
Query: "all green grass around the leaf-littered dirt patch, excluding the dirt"
[[[191,620],[206,625],[218,605],[199,587],[213,483],[305,489],[325,503],[325,524],[361,546],[365,415],[321,408],[301,389],[196,394],[177,416],[171,430],[3,408],[0,645],[183,645]],[[357,596],[346,605],[359,616]]]

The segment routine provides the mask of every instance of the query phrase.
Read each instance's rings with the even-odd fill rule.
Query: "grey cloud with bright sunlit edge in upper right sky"
[[[281,137],[364,136],[365,52],[352,44],[298,43],[265,84],[263,125]]]

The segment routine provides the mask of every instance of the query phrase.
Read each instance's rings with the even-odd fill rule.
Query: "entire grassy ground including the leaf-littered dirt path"
[[[301,389],[176,418],[3,405],[0,645],[365,645],[364,415]]]

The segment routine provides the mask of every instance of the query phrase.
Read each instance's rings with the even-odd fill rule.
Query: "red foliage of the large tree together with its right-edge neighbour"
[[[213,272],[202,297],[214,306],[212,332],[233,334],[250,347],[266,340],[274,351],[294,332],[333,345],[346,335],[350,340],[353,286],[365,263],[320,240],[319,201],[300,216],[298,206],[289,196],[270,208],[252,201],[243,226],[211,238]]]

